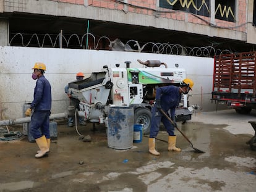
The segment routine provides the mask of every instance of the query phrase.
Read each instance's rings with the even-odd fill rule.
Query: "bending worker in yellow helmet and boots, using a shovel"
[[[176,148],[176,135],[174,135],[174,126],[169,120],[164,117],[159,109],[162,109],[167,115],[168,111],[171,111],[171,119],[173,120],[176,126],[175,120],[175,110],[179,105],[181,100],[181,94],[189,93],[189,90],[192,90],[194,82],[189,78],[186,78],[182,81],[180,86],[162,86],[156,89],[156,102],[153,106],[152,118],[151,118],[151,127],[150,127],[150,137],[148,139],[149,152],[155,156],[159,156],[160,152],[155,149],[155,138],[158,135],[160,129],[160,123],[163,122],[166,131],[169,134],[168,137],[168,151],[181,151],[180,148]]]

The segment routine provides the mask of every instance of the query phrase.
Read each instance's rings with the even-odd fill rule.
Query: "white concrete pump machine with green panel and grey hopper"
[[[137,61],[143,67],[130,67],[129,61],[125,62],[124,68],[119,64],[113,68],[104,65],[90,77],[69,83],[69,91],[73,98],[79,99],[79,112],[83,112],[87,122],[105,123],[107,127],[109,107],[133,107],[134,123],[143,125],[144,135],[149,133],[156,88],[181,85],[186,70],[179,69],[177,64],[176,68],[169,69],[161,61]],[[194,107],[189,106],[187,95],[183,95],[176,109],[176,121],[190,120],[193,112]]]

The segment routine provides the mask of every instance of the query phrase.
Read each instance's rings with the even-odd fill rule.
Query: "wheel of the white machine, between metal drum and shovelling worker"
[[[147,108],[140,107],[134,111],[134,124],[143,124],[143,135],[150,133],[151,111]]]

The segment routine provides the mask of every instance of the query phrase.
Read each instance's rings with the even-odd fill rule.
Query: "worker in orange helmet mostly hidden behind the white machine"
[[[76,77],[77,77],[77,81],[80,81],[80,80],[83,80],[83,77],[85,77],[85,75],[83,75],[82,72],[78,72]],[[67,94],[67,96],[70,99],[70,106],[74,106],[75,109],[79,110],[80,101],[79,101],[79,99],[72,98],[72,93],[69,92],[69,85],[65,86],[65,93]],[[73,125],[74,125],[74,118],[73,117],[69,117],[67,125],[69,127],[73,127]],[[79,125],[86,125],[86,123],[85,123],[85,121],[83,120],[82,117],[79,117]]]

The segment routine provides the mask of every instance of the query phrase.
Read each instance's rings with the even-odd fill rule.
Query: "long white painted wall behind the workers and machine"
[[[89,77],[93,71],[99,71],[103,65],[114,67],[124,61],[131,61],[130,67],[142,67],[137,62],[160,60],[168,67],[179,67],[187,70],[187,78],[195,85],[190,91],[190,104],[199,104],[203,111],[212,111],[211,89],[213,59],[205,57],[173,56],[164,54],[147,54],[139,52],[96,51],[82,49],[54,48],[21,48],[0,46],[0,109],[7,119],[23,117],[23,104],[33,100],[35,80],[32,80],[32,67],[35,62],[46,64],[45,77],[52,86],[52,114],[64,112],[69,104],[64,93],[64,86],[75,80],[77,72]]]

